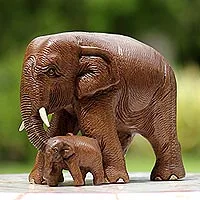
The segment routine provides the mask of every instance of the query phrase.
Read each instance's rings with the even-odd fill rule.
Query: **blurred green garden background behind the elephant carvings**
[[[21,123],[19,85],[27,44],[39,35],[98,31],[128,35],[159,50],[178,82],[178,136],[187,171],[200,171],[199,0],[0,0],[0,173],[28,172],[36,150]],[[155,157],[137,136],[129,171],[150,171]]]

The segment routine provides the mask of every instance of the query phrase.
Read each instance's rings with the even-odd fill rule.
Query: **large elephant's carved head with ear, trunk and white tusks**
[[[99,60],[91,64],[86,58]],[[44,151],[50,138],[47,115],[119,82],[115,60],[107,50],[83,46],[70,35],[42,36],[27,47],[21,78],[23,127],[30,142]],[[51,130],[51,127],[49,128]]]

